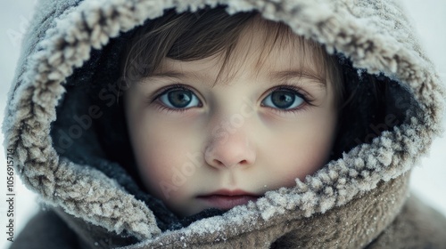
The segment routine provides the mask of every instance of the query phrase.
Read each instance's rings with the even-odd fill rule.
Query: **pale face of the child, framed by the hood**
[[[165,59],[125,93],[141,178],[179,216],[292,187],[329,157],[337,116],[332,81],[311,51],[291,43],[260,56],[264,39],[256,34],[241,36],[224,83],[212,87],[221,56]]]

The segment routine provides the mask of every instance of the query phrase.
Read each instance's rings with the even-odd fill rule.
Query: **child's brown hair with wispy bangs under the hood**
[[[253,28],[252,25],[260,27]],[[315,66],[318,73],[325,81],[329,77],[333,83],[336,103],[342,102],[342,73],[335,56],[328,55],[322,45],[294,35],[284,23],[262,20],[258,12],[229,15],[222,7],[179,14],[171,10],[161,18],[150,20],[143,27],[136,28],[136,33],[123,53],[122,83],[129,85],[150,76],[160,69],[164,58],[191,61],[221,53],[223,63],[214,82],[217,84],[225,69],[231,71],[228,61],[242,32],[247,30],[260,30],[264,34],[266,45],[260,53],[258,63],[263,53],[271,52],[275,45],[284,46],[291,42],[302,53],[312,52],[316,57],[314,59],[317,61]]]

